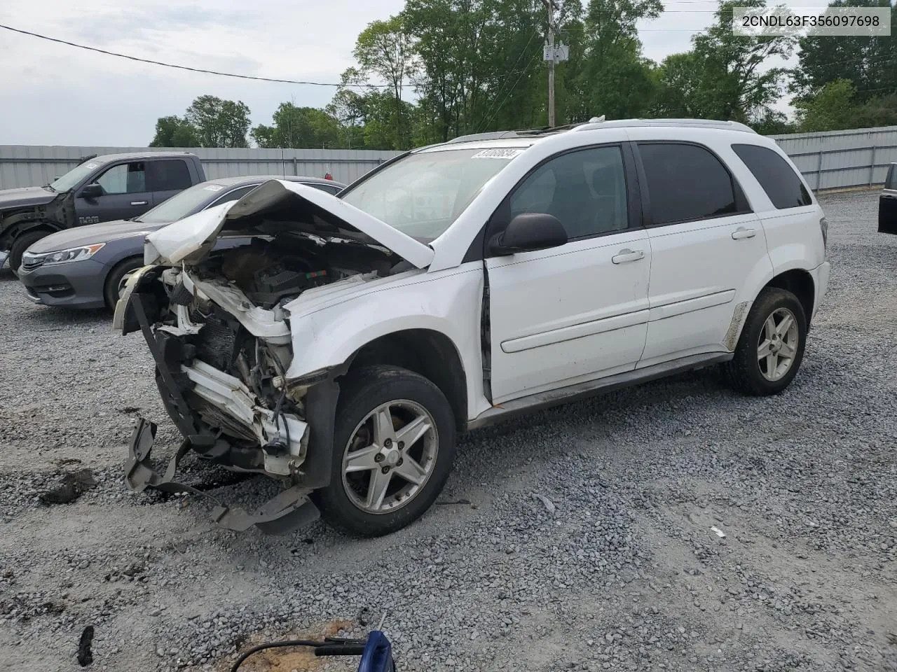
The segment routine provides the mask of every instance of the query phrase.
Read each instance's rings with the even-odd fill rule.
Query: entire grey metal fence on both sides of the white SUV
[[[882,184],[888,165],[897,162],[897,126],[772,137],[816,191]],[[161,148],[150,149],[162,151]],[[45,185],[74,168],[83,156],[123,151],[147,149],[0,145],[0,189]],[[205,174],[210,179],[243,175],[324,177],[329,172],[335,180],[347,184],[398,153],[202,148],[187,151],[193,151],[202,159]]]

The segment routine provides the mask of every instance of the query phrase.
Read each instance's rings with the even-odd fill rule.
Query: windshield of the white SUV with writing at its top
[[[345,202],[408,236],[442,235],[492,177],[522,148],[465,149],[411,154],[347,194]]]

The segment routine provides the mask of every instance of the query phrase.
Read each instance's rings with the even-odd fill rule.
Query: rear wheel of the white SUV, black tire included
[[[788,316],[793,320],[793,326],[786,329],[782,324]],[[775,325],[773,339],[768,338],[769,320]],[[763,351],[771,353],[777,366],[770,366],[769,355],[761,361],[761,348],[767,341],[770,341],[770,347]],[[724,370],[729,382],[740,392],[753,396],[779,394],[797,375],[805,345],[804,306],[788,290],[768,287],[753,302],[738,339],[735,357],[724,365]]]

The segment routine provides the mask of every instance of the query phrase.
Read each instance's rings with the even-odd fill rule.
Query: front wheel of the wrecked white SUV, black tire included
[[[371,418],[378,410],[380,418],[390,418],[381,429]],[[403,436],[411,439],[407,445]],[[379,537],[400,530],[436,501],[455,458],[455,441],[454,414],[436,385],[396,366],[362,368],[340,392],[330,485],[312,499],[325,521],[350,534]],[[378,492],[384,493],[379,504]]]

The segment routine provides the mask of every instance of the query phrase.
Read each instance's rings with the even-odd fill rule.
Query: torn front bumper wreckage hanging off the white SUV
[[[178,353],[172,353],[166,347],[168,341],[165,338],[157,340],[152,332],[143,294],[129,292],[126,306],[119,302],[117,313],[119,309],[123,313],[125,310],[132,312],[139,324],[159,370],[161,390],[168,395],[168,402],[173,410],[171,417],[185,436],[167,470],[160,474],[152,469],[149,461],[155,425],[140,418],[128,445],[128,487],[138,492],[146,487],[153,487],[164,492],[209,496],[174,479],[179,461],[193,449],[201,457],[227,464],[224,458],[230,454],[232,447],[220,433],[210,433],[197,423],[196,414],[184,397],[185,388],[213,408],[220,409],[228,418],[239,422],[256,436],[261,448],[253,453],[261,454],[262,461],[242,470],[264,471],[271,476],[300,480],[300,466],[305,461],[309,445],[309,425],[305,421],[287,413],[274,418],[274,411],[259,406],[252,393],[238,378],[199,359],[194,358],[188,363],[180,362]],[[283,441],[284,435],[287,437],[286,441]],[[219,505],[213,518],[220,526],[230,530],[247,530],[253,525],[272,532],[292,530],[318,518],[318,510],[308,497],[310,492],[308,485],[294,485],[251,514]]]

